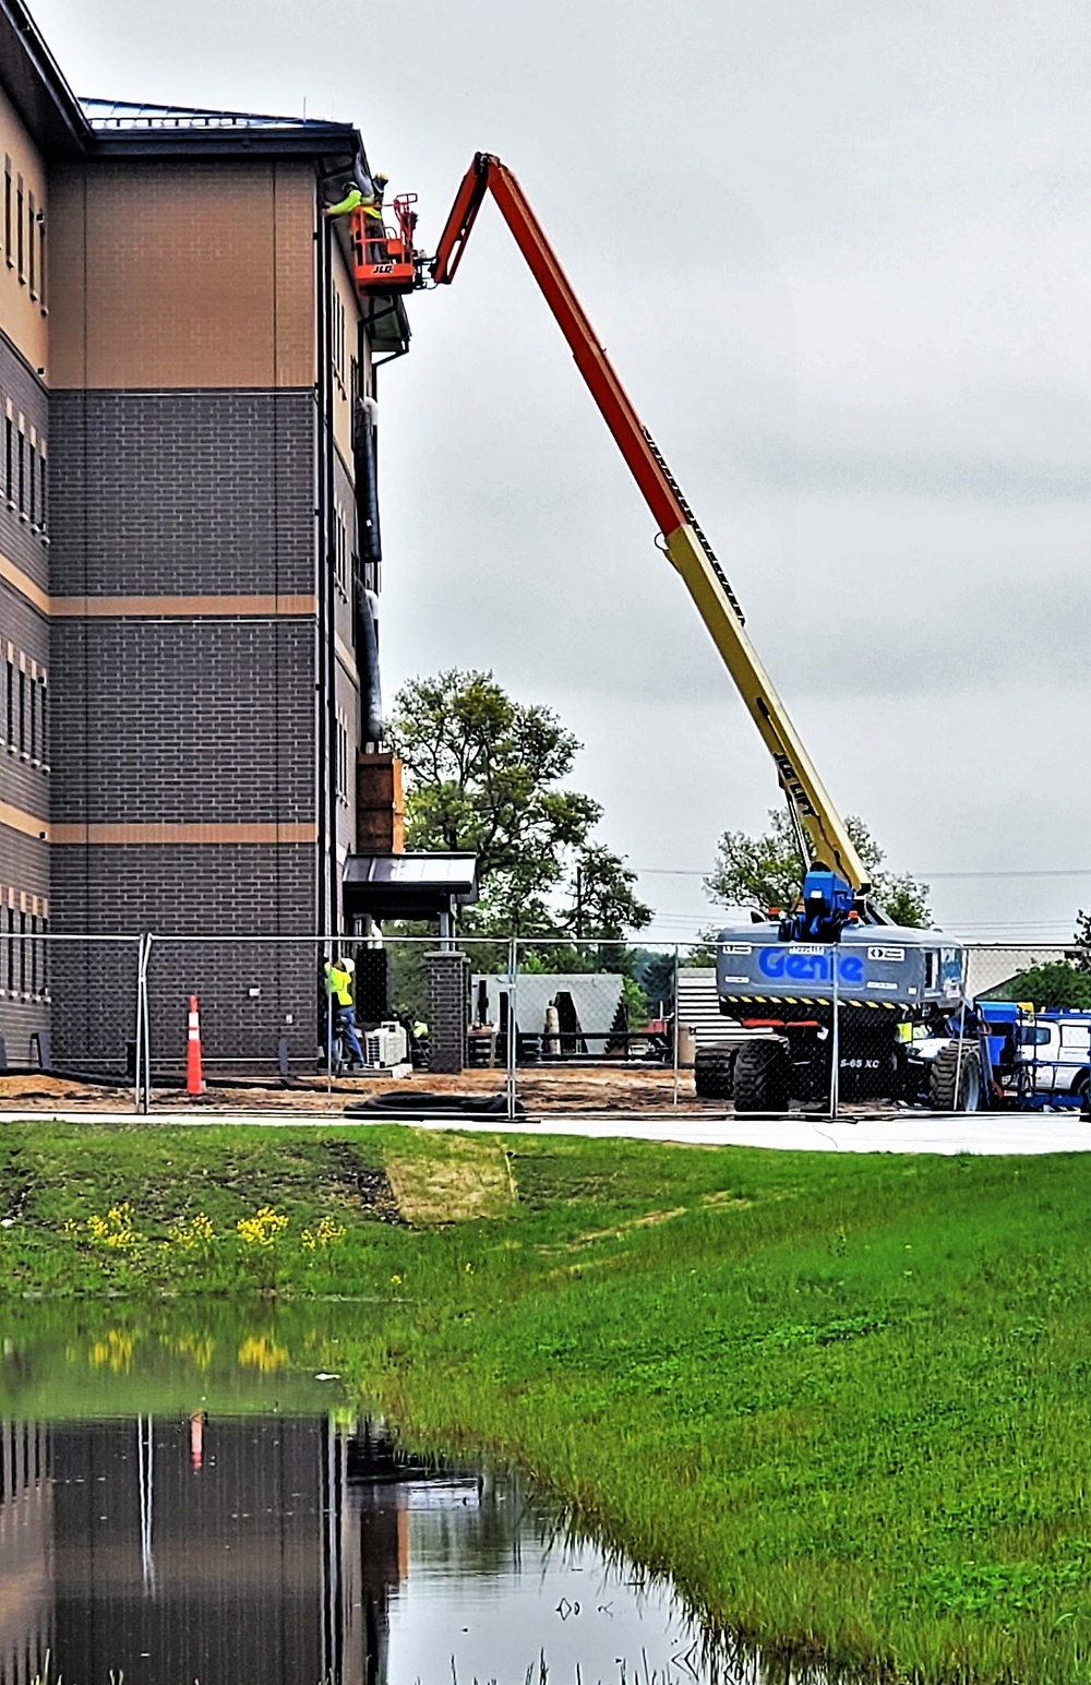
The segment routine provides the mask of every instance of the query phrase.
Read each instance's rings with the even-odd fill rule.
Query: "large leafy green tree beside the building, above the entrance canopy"
[[[552,709],[512,701],[492,672],[451,669],[402,686],[389,738],[409,848],[478,856],[468,930],[618,942],[650,923],[636,873],[591,839],[601,805],[561,787],[581,745]]]

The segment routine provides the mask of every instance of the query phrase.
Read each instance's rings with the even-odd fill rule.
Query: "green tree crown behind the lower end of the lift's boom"
[[[928,885],[907,873],[882,869],[886,854],[862,819],[845,817],[860,861],[870,873],[870,898],[897,925],[924,930],[931,925]],[[716,866],[705,890],[722,907],[780,907],[788,912],[800,898],[803,869],[786,807],[769,810],[769,827],[761,836],[724,831],[716,849]]]

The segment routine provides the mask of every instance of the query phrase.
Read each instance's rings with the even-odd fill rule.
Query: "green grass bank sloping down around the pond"
[[[444,1186],[495,1215],[391,1222],[387,1161],[433,1217]],[[359,1299],[300,1361],[418,1444],[514,1458],[766,1656],[1091,1682],[1091,1158],[524,1136],[514,1203],[502,1163],[397,1129],[8,1127],[0,1284],[20,1326],[27,1292]],[[111,1254],[86,1223],[125,1200]],[[254,1259],[259,1205],[290,1222]],[[212,1240],[172,1242],[197,1212]],[[343,1233],[303,1249],[322,1217]]]

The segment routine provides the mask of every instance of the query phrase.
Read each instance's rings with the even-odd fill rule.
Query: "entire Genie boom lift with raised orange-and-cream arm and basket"
[[[966,1104],[988,1104],[988,1065],[977,1019],[963,1006],[961,950],[936,930],[891,925],[869,903],[867,871],[749,640],[724,570],[507,165],[487,152],[475,155],[431,259],[412,249],[416,214],[409,199],[401,201],[399,234],[386,231],[389,248],[374,238],[360,243],[357,288],[364,297],[389,292],[391,278],[404,286],[409,263],[418,286],[453,281],[487,194],[515,236],[655,517],[660,548],[682,575],[773,755],[805,868],[800,903],[785,918],[766,922],[754,913],[749,925],[717,937],[717,994],[734,1028],[726,1028],[724,1043],[699,1048],[697,1094],[734,1095],[737,1112],[783,1110],[791,1097],[822,1105],[837,1092],[857,1100],[931,1099],[946,1110],[961,1100],[966,1070],[977,1070],[978,1099]],[[948,1043],[951,1055],[934,1056]]]

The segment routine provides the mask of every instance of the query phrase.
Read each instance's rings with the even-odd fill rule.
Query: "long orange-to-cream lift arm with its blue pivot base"
[[[785,940],[835,942],[854,912],[870,922],[882,922],[874,908],[867,907],[865,896],[870,888],[867,871],[748,637],[742,610],[712,546],[663,462],[663,453],[633,409],[527,195],[508,167],[488,152],[475,155],[458,189],[436,256],[428,265],[433,285],[443,286],[455,280],[487,194],[493,195],[515,236],[546,303],[569,342],[588,391],[658,524],[662,549],[682,575],[751,719],[773,755],[806,869],[801,907],[785,918]]]

